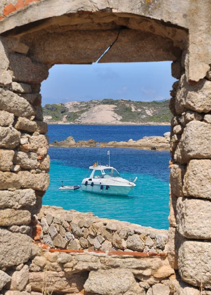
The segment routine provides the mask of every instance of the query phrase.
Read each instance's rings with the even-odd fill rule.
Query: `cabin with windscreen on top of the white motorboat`
[[[121,177],[117,170],[110,166],[90,166],[90,170],[92,170],[90,174],[90,178],[117,178]]]

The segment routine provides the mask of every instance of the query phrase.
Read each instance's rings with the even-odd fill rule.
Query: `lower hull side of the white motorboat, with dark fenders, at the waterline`
[[[132,186],[119,186],[119,185],[109,185],[106,190],[106,185],[103,185],[103,189],[101,184],[94,184],[91,186],[90,184],[81,184],[81,189],[84,192],[95,193],[95,194],[104,194],[104,195],[121,195],[127,196],[132,190]]]

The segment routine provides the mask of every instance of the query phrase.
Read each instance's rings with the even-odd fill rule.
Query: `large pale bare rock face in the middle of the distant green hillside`
[[[119,122],[121,116],[113,112],[116,106],[99,105],[83,113],[78,121],[81,124],[114,124]]]

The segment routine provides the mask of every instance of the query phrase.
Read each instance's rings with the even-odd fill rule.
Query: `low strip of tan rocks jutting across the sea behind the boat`
[[[139,140],[129,141],[111,141],[108,143],[97,142],[93,139],[80,140],[76,142],[72,136],[67,137],[65,140],[57,142],[56,140],[50,144],[51,147],[100,147],[100,148],[139,148],[151,150],[169,150],[170,149],[170,132],[166,132],[163,136],[144,136]]]

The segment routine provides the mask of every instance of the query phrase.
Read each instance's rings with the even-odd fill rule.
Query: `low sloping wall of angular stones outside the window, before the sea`
[[[38,222],[42,228],[41,241],[58,249],[163,253],[168,239],[166,230],[98,218],[92,212],[68,211],[62,207],[43,206]]]

